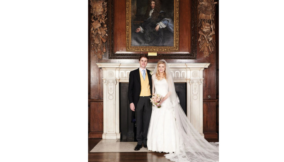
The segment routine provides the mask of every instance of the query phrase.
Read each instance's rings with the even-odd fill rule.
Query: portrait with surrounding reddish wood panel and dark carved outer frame
[[[149,0],[108,0],[109,59],[138,59],[149,52],[157,53],[151,59],[196,59],[198,1],[154,2],[153,6]],[[152,8],[160,9],[150,16]],[[149,17],[159,22],[150,22]]]

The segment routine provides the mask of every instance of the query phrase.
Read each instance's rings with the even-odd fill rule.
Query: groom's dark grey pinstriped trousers
[[[137,107],[135,108],[136,139],[138,145],[142,145],[142,143],[147,145],[147,134],[152,114],[151,97],[152,96],[140,96]]]

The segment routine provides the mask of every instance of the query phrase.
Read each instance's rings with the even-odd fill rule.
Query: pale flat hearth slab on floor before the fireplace
[[[210,142],[219,147],[219,142]],[[137,142],[120,142],[120,139],[102,139],[90,152],[152,152],[142,147],[134,151]]]

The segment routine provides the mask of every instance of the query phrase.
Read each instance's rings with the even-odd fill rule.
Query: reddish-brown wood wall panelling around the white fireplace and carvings
[[[111,3],[113,2],[113,3]],[[219,132],[219,108],[218,108],[218,100],[219,100],[219,1],[216,4],[216,12],[215,12],[215,35],[213,35],[214,40],[216,41],[216,48],[213,53],[209,55],[209,57],[204,58],[203,53],[199,52],[199,42],[196,43],[195,47],[191,47],[192,43],[190,42],[190,38],[192,38],[192,32],[190,31],[190,23],[181,23],[181,22],[192,22],[191,18],[191,10],[196,8],[195,6],[191,6],[191,0],[180,1],[180,51],[190,51],[190,48],[196,50],[196,59],[165,59],[169,63],[199,63],[204,62],[210,63],[208,68],[205,68],[203,71],[203,132],[205,132],[205,138],[208,139],[216,139],[218,138]],[[195,1],[195,5],[197,5],[198,1]],[[90,3],[90,2],[89,2]],[[94,56],[94,52],[90,49],[90,41],[89,41],[89,137],[90,138],[101,138],[101,134],[103,132],[103,73],[102,70],[98,68],[96,63],[98,62],[115,62],[115,63],[138,63],[137,58],[128,59],[108,59],[110,50],[112,49],[110,46],[113,46],[113,50],[115,52],[125,51],[125,0],[122,1],[108,1],[108,10],[111,11],[111,6],[115,5],[114,10],[109,12],[113,14],[113,20],[110,14],[108,14],[108,28],[111,29],[111,26],[114,27],[114,41],[108,40],[107,49],[108,51],[104,53],[102,59],[98,59],[97,56]],[[90,5],[89,5],[90,7]],[[197,11],[196,11],[197,12]],[[123,16],[124,15],[124,16]],[[89,19],[90,20],[90,19]],[[90,23],[89,23],[90,25]],[[187,29],[187,30],[186,30]],[[196,25],[196,30],[198,31],[198,26]],[[90,29],[89,29],[90,32]],[[108,30],[108,34],[111,35],[111,31]],[[196,37],[199,38],[199,34],[196,33]],[[90,33],[89,33],[90,37]],[[137,53],[137,52],[136,52]],[[140,52],[138,52],[140,53]],[[158,58],[150,57],[149,62],[156,63],[158,62]],[[138,67],[137,67],[138,68]],[[210,98],[208,97],[210,96]],[[99,137],[98,137],[99,136]]]

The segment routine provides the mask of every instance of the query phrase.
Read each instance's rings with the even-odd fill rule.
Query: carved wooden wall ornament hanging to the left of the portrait
[[[91,5],[91,45],[94,55],[103,58],[106,52],[106,41],[108,40],[108,28],[105,21],[108,19],[107,2],[105,0],[90,0]]]

